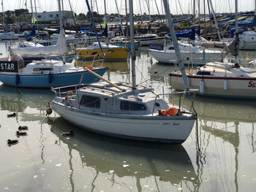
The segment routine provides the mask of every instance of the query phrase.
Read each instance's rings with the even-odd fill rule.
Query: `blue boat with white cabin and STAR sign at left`
[[[108,68],[91,70],[100,76]],[[23,66],[23,61],[0,61],[0,81],[4,85],[23,88],[51,88],[79,83],[97,82],[99,78],[86,69],[64,64],[62,61],[33,61]]]

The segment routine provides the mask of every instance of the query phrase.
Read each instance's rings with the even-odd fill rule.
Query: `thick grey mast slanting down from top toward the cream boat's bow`
[[[169,29],[170,29],[170,34],[171,34],[171,37],[173,39],[173,47],[174,47],[176,57],[177,57],[177,61],[178,61],[177,63],[178,63],[178,66],[181,70],[181,74],[182,74],[182,77],[183,77],[185,89],[187,91],[189,91],[189,82],[187,80],[187,75],[186,75],[186,72],[184,70],[184,64],[183,64],[183,61],[182,61],[182,58],[181,58],[181,50],[178,46],[178,40],[177,40],[177,37],[176,37],[176,33],[174,31],[173,19],[170,15],[169,4],[168,4],[167,0],[163,0],[163,1],[164,1],[164,7],[165,7],[165,15],[166,15],[166,18],[168,20],[168,26],[169,26]]]

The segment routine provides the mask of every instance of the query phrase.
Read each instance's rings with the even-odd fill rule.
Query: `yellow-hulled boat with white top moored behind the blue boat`
[[[78,53],[79,58],[85,58],[89,60],[94,58],[105,58],[105,60],[107,61],[127,60],[127,47],[106,45],[105,43],[100,43],[100,45],[102,46],[102,50],[105,57],[103,57],[102,55],[98,42],[94,42],[92,45],[89,45],[88,47],[77,48],[75,49],[75,53]]]

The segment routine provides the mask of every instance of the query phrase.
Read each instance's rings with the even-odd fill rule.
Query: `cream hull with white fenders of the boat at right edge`
[[[206,75],[203,77],[201,75],[187,75],[187,77],[189,88],[199,90],[200,82],[203,79],[203,92],[197,91],[197,94],[200,95],[256,99],[256,78],[253,77],[207,77]],[[226,90],[225,80],[227,81]],[[170,73],[170,85],[176,90],[184,90],[181,74]]]

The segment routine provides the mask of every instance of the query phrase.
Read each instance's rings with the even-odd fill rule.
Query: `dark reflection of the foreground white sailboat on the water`
[[[125,183],[127,177],[135,178],[138,191],[142,191],[143,188],[141,180],[147,177],[154,178],[155,185],[162,182],[186,185],[192,187],[192,191],[198,183],[192,162],[182,145],[159,145],[109,138],[67,124],[63,118],[56,118],[51,131],[59,137],[59,145],[61,142],[67,144],[71,170],[71,150],[77,150],[83,165],[97,172],[94,180],[91,180],[91,189],[94,188],[98,174],[108,174],[113,185],[116,184],[116,177],[125,178],[122,183],[127,186],[129,186],[128,182]],[[74,130],[74,137],[69,139],[62,137],[61,132],[69,131],[70,128]],[[73,188],[72,174],[69,178]]]

